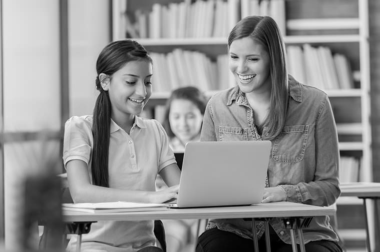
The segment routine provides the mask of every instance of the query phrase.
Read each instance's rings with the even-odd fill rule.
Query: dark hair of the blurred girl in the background
[[[174,133],[170,127],[169,122],[169,113],[170,113],[170,105],[173,100],[176,99],[184,99],[189,100],[194,103],[202,115],[204,115],[204,111],[206,110],[207,105],[207,97],[204,95],[198,88],[188,86],[188,87],[180,87],[172,91],[169,99],[166,101],[165,105],[165,114],[164,114],[164,122],[162,125],[169,137],[174,137]]]

